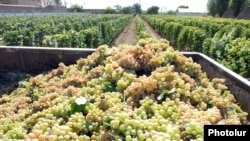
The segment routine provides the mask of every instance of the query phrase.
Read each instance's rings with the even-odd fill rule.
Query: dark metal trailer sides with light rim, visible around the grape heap
[[[8,47],[0,46],[0,84],[7,81],[10,91],[26,75],[35,75],[65,65],[74,64],[79,58],[93,53],[90,48]],[[250,115],[250,81],[198,52],[182,52],[201,65],[210,79],[224,78],[242,109]],[[1,89],[1,87],[0,87]],[[3,91],[3,90],[2,90]],[[0,91],[1,94],[1,91]],[[250,116],[248,116],[250,119]],[[248,120],[249,121],[249,120]]]

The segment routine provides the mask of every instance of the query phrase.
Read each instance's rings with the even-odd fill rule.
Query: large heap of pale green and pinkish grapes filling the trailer
[[[202,141],[205,124],[246,124],[220,78],[166,40],[99,46],[0,98],[0,139]]]

